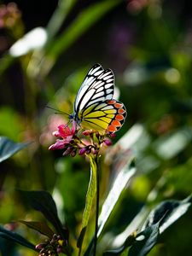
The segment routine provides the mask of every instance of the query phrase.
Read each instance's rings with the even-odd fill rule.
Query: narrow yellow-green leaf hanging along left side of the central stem
[[[78,247],[81,247],[83,243],[86,226],[90,219],[90,211],[92,209],[93,200],[96,195],[96,172],[98,172],[96,160],[94,160],[90,156],[90,183],[89,183],[87,195],[86,195],[84,214],[82,219],[82,230],[79,236],[79,241],[77,243]]]

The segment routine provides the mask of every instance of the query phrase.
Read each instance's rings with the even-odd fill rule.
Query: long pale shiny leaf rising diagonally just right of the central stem
[[[113,187],[109,191],[108,197],[102,205],[102,212],[98,219],[99,230],[98,230],[97,236],[101,235],[104,225],[108,221],[108,218],[111,212],[113,211],[113,207],[116,205],[117,201],[119,200],[119,196],[121,195],[121,192],[123,191],[123,189],[125,189],[125,186],[130,181],[131,177],[134,175],[135,172],[136,172],[135,162],[132,159],[129,162],[129,164],[125,166],[121,170],[121,172],[119,172],[119,175],[115,178]]]

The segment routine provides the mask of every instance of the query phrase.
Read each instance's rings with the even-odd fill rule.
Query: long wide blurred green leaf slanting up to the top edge
[[[53,67],[58,56],[67,50],[67,48],[91,26],[93,26],[97,20],[102,19],[102,16],[107,14],[108,11],[113,9],[121,2],[122,0],[100,1],[98,3],[91,4],[90,7],[81,11],[75,20],[73,20],[73,23],[61,34],[61,36],[47,46],[47,54],[45,57],[41,57],[38,60],[38,63],[37,61],[31,63],[32,69],[35,69],[35,67],[38,65],[41,75],[46,76],[47,73],[49,73],[49,70]]]

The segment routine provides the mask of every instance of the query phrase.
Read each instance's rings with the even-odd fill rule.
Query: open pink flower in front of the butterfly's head
[[[49,150],[66,148],[73,140],[73,136],[76,132],[76,123],[73,121],[73,126],[70,129],[68,125],[59,125],[58,130],[53,132],[55,137],[60,137],[57,139],[55,144],[49,147]]]

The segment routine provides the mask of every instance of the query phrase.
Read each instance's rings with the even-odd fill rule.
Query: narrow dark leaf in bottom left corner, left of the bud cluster
[[[15,232],[5,230],[2,226],[0,226],[0,236],[36,251],[35,246],[30,241],[27,241],[24,237],[16,234]]]

